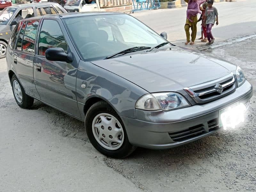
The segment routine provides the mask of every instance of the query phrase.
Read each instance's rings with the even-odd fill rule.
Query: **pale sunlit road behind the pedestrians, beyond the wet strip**
[[[216,42],[256,33],[255,0],[215,3],[219,12],[219,25],[212,28]],[[185,42],[184,25],[187,8],[158,9],[135,12],[132,16],[146,23],[159,34],[166,31],[168,40],[174,43]],[[198,16],[199,17],[199,16]],[[198,38],[201,36],[201,23],[197,24]]]

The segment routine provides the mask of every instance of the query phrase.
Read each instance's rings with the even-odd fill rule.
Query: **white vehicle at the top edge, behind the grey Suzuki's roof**
[[[67,12],[100,11],[99,0],[67,0],[64,9]]]

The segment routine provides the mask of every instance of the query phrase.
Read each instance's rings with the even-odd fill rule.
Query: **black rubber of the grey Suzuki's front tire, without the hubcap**
[[[102,147],[95,139],[92,132],[92,123],[93,119],[100,113],[108,113],[114,116],[122,125],[124,131],[124,142],[120,148],[116,150],[106,149]],[[127,133],[125,131],[125,127],[121,118],[117,115],[116,111],[106,101],[98,101],[89,108],[85,116],[84,124],[87,136],[91,141],[93,147],[96,148],[100,153],[102,153],[105,156],[121,159],[129,156],[136,149],[136,147],[132,146],[128,140]]]

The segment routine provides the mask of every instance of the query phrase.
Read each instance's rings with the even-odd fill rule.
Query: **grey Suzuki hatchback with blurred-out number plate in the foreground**
[[[84,121],[92,145],[115,158],[243,122],[252,85],[242,69],[166,39],[123,13],[21,20],[6,56],[14,98],[21,108],[36,99]]]

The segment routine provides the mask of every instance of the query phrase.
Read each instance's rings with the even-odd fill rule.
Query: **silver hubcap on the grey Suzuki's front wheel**
[[[122,125],[108,113],[100,113],[93,119],[92,132],[97,142],[109,150],[120,148],[124,142]]]

